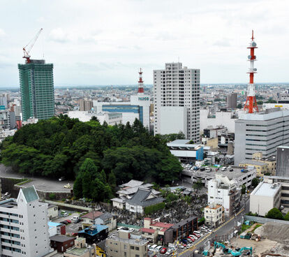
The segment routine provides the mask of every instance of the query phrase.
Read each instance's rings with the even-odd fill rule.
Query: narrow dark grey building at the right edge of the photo
[[[277,147],[276,176],[289,178],[289,147]]]

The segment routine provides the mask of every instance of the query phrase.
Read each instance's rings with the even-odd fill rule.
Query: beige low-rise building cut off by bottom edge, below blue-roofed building
[[[95,244],[87,246],[86,240],[84,237],[77,237],[74,241],[74,247],[71,247],[66,250],[64,257],[96,257],[103,255],[96,255],[96,246]]]

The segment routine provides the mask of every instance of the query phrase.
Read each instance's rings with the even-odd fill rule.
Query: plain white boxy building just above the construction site
[[[261,182],[250,195],[250,212],[265,216],[281,203],[281,184]]]

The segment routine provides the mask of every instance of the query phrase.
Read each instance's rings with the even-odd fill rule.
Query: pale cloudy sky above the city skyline
[[[22,47],[54,64],[54,85],[152,84],[166,62],[200,68],[202,84],[289,82],[288,0],[1,0],[0,87],[19,86]]]

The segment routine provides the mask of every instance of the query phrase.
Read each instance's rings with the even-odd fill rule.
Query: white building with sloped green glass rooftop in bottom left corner
[[[41,257],[50,253],[47,203],[34,186],[20,189],[17,199],[0,202],[0,256]]]

